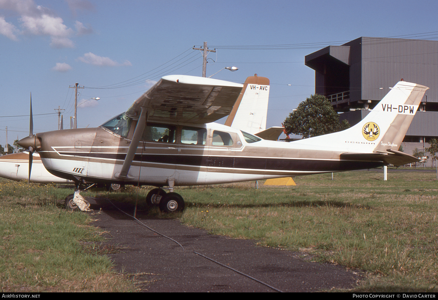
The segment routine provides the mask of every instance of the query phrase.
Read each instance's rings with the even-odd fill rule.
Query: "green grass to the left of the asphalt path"
[[[123,292],[131,286],[99,255],[87,214],[66,211],[70,189],[0,181],[2,292]]]

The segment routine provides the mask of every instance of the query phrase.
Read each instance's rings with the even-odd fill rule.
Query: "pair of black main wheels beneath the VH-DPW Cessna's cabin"
[[[174,192],[166,193],[164,189],[152,189],[146,196],[146,203],[157,205],[162,212],[183,211],[185,204],[183,197]]]

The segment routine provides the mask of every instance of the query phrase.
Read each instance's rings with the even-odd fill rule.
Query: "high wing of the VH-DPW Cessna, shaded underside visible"
[[[168,75],[135,100],[126,115],[138,119],[143,107],[151,122],[210,123],[230,114],[242,87],[212,78]]]

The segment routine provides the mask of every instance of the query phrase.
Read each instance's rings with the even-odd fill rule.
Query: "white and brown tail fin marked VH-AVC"
[[[225,125],[255,134],[266,129],[269,79],[255,74],[246,79]]]

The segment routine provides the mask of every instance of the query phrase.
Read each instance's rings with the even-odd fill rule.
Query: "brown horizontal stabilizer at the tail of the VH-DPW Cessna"
[[[417,157],[403,153],[398,150],[387,150],[379,153],[343,153],[341,159],[348,161],[383,161],[386,164],[393,164],[395,166],[402,166],[420,161]]]

